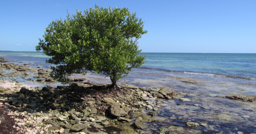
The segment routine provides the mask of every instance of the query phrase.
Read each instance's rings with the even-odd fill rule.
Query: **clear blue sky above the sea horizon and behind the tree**
[[[148,31],[142,52],[256,53],[256,1],[1,1],[0,51],[35,51],[55,19],[94,7],[127,7]]]

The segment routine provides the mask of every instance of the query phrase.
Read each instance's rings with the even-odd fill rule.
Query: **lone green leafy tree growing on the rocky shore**
[[[110,77],[111,88],[127,76],[132,68],[145,63],[138,39],[146,34],[143,21],[127,8],[116,7],[77,10],[66,20],[52,21],[36,46],[51,56],[51,77],[65,83],[72,73],[92,71]]]

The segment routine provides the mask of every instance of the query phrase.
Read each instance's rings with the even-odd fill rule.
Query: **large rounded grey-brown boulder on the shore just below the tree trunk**
[[[132,109],[121,104],[115,103],[109,106],[109,112],[111,115],[120,117],[128,115]]]

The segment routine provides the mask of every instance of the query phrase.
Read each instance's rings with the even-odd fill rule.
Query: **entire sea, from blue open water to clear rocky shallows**
[[[162,107],[157,111],[157,119],[161,123],[152,123],[151,127],[186,127],[187,121],[194,121],[209,125],[209,128],[198,128],[203,133],[256,132],[256,103],[225,98],[231,95],[256,96],[256,54],[142,54],[146,55],[146,63],[132,69],[129,76],[117,82],[118,85],[167,87],[185,93],[187,95],[181,97],[191,99],[190,102],[181,102],[179,99],[158,100],[157,103]],[[0,51],[0,57],[16,64],[51,65],[45,63],[49,57],[42,52]],[[111,83],[109,78],[91,72],[85,76],[74,74],[72,77],[84,77],[95,83]],[[151,101],[155,102],[154,99]],[[231,119],[221,119],[217,115],[227,115]]]

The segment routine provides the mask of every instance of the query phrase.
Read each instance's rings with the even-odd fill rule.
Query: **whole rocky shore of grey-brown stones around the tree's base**
[[[66,86],[32,87],[17,79],[56,81],[50,78],[50,69],[29,65],[0,63],[0,133],[203,133],[196,128],[209,127],[204,122],[187,121],[185,127],[149,128],[148,123],[158,122],[159,101],[191,101],[173,89],[119,85],[119,90],[109,90],[108,85],[71,77]],[[243,100],[255,98],[243,96]]]

